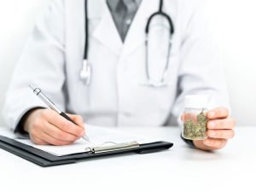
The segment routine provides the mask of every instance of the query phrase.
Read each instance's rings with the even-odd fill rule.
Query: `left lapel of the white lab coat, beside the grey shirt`
[[[113,22],[113,17],[108,9],[108,5],[106,1],[99,0],[98,3],[102,4],[102,18],[96,26],[95,31],[93,32],[93,38],[96,38],[101,44],[112,49],[116,54],[120,54],[120,50],[122,49],[123,43],[121,38],[119,37],[119,32]],[[94,3],[94,8],[92,10],[98,9],[96,3]]]

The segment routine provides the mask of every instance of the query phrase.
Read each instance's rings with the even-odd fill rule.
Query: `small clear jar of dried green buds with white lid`
[[[185,96],[182,137],[189,140],[207,138],[207,96]]]

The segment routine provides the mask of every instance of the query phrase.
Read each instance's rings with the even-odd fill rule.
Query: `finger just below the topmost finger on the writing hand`
[[[55,127],[55,125],[51,125],[49,123],[46,123],[46,125],[44,125],[44,132],[47,133],[49,136],[63,142],[74,142],[79,139],[79,137],[74,136],[73,134],[70,134],[66,131],[62,131],[58,127]]]

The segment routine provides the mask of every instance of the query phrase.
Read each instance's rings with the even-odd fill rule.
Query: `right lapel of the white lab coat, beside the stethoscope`
[[[142,1],[137,14],[135,15],[129,32],[125,38],[122,56],[131,55],[141,44],[145,42],[145,28],[148,18],[158,9],[158,1],[145,0]]]

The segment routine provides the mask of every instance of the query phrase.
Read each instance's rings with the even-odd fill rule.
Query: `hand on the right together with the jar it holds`
[[[227,108],[207,111],[206,106],[206,96],[186,96],[182,136],[192,140],[196,148],[224,148],[228,140],[235,135],[235,119],[229,117]]]

